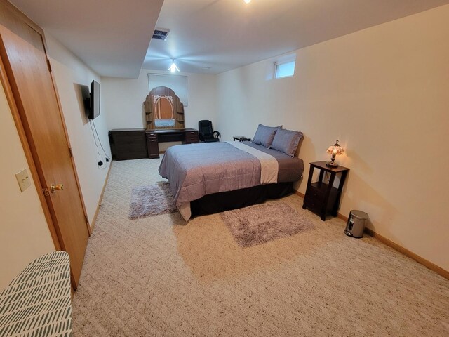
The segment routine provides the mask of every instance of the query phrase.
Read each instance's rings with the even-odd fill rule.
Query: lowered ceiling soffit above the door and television
[[[163,0],[9,0],[101,76],[138,77]]]

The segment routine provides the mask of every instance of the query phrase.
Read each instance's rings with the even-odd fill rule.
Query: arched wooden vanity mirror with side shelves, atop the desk
[[[143,103],[147,130],[157,128],[184,128],[184,105],[175,91],[157,86]]]

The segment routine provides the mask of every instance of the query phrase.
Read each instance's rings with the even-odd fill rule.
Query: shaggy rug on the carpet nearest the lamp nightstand
[[[268,202],[225,211],[221,217],[241,247],[263,244],[314,227],[284,202]]]

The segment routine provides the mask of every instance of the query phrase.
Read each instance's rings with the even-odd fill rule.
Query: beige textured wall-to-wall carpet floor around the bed
[[[449,280],[372,237],[314,228],[241,248],[220,214],[128,219],[158,159],[114,161],[73,300],[81,336],[449,336]],[[276,201],[274,201],[276,202]]]

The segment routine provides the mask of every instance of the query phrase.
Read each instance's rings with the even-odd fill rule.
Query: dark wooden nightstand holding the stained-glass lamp
[[[314,169],[319,169],[319,179],[312,183]],[[317,213],[321,220],[326,220],[326,216],[330,213],[332,216],[337,216],[337,211],[340,205],[340,195],[342,194],[344,180],[346,180],[349,169],[344,166],[329,167],[326,161],[316,161],[310,163],[309,179],[307,180],[307,190],[304,196],[303,209],[310,209]],[[324,173],[329,173],[330,178],[328,183],[323,181]],[[334,187],[335,176],[340,174],[340,183],[338,187]]]

